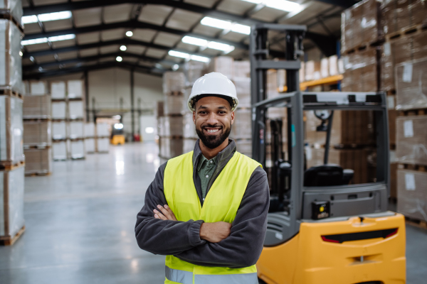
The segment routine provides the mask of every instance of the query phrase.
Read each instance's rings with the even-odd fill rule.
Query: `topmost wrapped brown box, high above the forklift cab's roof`
[[[360,1],[341,15],[341,51],[357,48],[364,43],[375,43],[382,38],[381,1]]]

